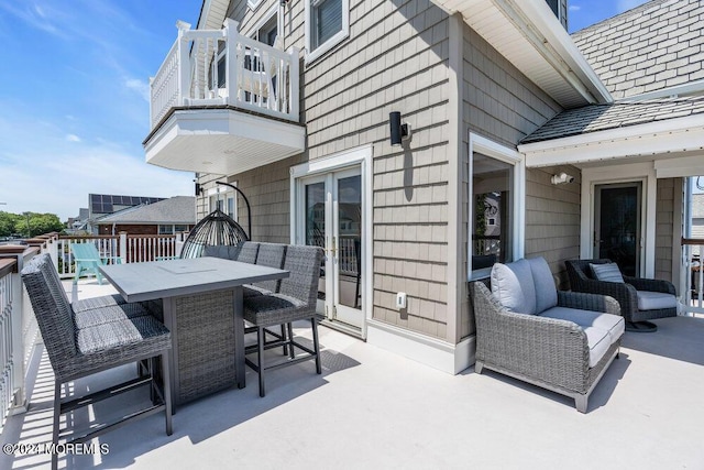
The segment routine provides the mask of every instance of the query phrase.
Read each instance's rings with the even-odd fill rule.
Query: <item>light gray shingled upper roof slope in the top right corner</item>
[[[704,79],[702,0],[653,0],[572,40],[614,99]]]

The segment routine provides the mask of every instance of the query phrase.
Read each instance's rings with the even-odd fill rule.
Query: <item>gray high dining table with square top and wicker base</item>
[[[195,258],[100,266],[127,302],[162,300],[172,331],[174,404],[242,389],[242,285],[288,277],[288,271],[221,258]]]

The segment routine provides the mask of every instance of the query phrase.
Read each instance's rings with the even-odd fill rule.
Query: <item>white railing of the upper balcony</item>
[[[174,107],[229,105],[298,121],[298,50],[280,51],[241,35],[238,22],[222,30],[190,30],[178,39],[151,79],[154,129]]]

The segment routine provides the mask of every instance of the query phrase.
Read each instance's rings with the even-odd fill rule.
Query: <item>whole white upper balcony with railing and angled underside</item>
[[[222,30],[178,39],[151,80],[146,162],[172,170],[233,174],[304,151],[298,50]]]

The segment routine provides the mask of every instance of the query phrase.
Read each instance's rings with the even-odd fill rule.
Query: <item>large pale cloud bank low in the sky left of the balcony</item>
[[[51,121],[0,116],[0,200],[7,203],[2,210],[52,212],[66,220],[88,206],[90,193],[193,195],[193,173],[147,164],[141,145],[80,140],[78,134],[82,133],[66,132]]]

